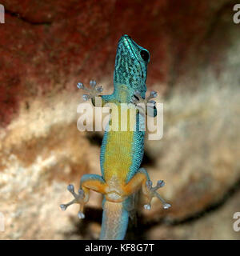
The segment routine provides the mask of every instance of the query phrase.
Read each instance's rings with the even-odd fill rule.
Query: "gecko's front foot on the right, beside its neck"
[[[131,103],[138,107],[138,110],[141,114],[146,114],[146,107],[151,107],[154,109],[156,102],[154,100],[151,100],[151,98],[156,98],[157,96],[158,93],[153,90],[150,92],[149,96],[147,96],[146,98],[142,98],[140,92],[136,91],[134,93],[134,97],[131,99]]]

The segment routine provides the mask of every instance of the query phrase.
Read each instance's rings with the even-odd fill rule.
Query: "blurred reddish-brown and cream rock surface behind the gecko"
[[[2,1],[0,211],[2,239],[97,239],[101,196],[86,219],[66,212],[67,184],[100,173],[101,133],[79,132],[76,82],[113,89],[118,38],[150,50],[147,86],[164,103],[164,136],[142,163],[172,204],[139,209],[131,239],[239,239],[240,25],[236,2]]]

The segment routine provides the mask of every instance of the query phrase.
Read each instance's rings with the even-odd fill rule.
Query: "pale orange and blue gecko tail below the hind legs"
[[[121,202],[106,201],[103,206],[100,240],[122,240],[125,237],[129,213]]]

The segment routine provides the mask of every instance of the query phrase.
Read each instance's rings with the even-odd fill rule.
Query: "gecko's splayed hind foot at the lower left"
[[[83,206],[86,202],[84,202],[84,198],[85,198],[85,194],[84,191],[79,189],[78,190],[78,194],[75,193],[74,191],[74,185],[69,185],[67,186],[67,190],[70,191],[70,193],[74,196],[74,200],[66,203],[66,204],[62,204],[60,205],[60,208],[62,210],[66,210],[66,208],[74,203],[77,203],[80,205],[80,210],[78,211],[78,218],[85,218],[85,215],[83,214]]]

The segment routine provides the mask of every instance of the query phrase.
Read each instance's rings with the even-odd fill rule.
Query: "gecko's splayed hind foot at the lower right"
[[[150,200],[151,200],[151,198],[154,198],[154,197],[158,198],[162,202],[163,208],[168,209],[168,208],[170,208],[171,205],[169,203],[165,202],[165,200],[157,192],[157,190],[164,185],[165,185],[165,182],[160,180],[157,182],[157,185],[153,187],[153,182],[148,180],[148,181],[146,181],[146,190],[147,190],[147,194],[148,194],[148,197],[150,198]],[[150,210],[151,209],[150,203],[144,205],[144,208],[146,210]]]

